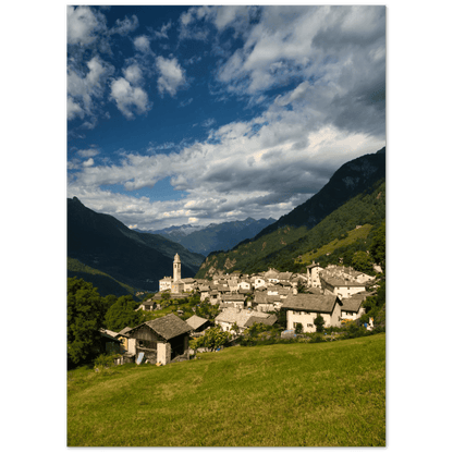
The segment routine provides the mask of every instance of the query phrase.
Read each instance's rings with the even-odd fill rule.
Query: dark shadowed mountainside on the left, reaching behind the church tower
[[[130,230],[112,216],[85,207],[76,197],[65,199],[66,257],[107,273],[135,290],[157,291],[159,280],[172,274],[177,253],[182,277],[194,277],[203,255],[167,237]]]

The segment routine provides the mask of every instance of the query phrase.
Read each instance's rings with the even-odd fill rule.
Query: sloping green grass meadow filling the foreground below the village
[[[385,446],[383,333],[199,357],[68,372],[68,446]]]

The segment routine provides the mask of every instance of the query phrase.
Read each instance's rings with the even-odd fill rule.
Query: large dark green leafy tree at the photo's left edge
[[[91,283],[66,280],[66,355],[69,366],[91,362],[100,351],[103,303]]]

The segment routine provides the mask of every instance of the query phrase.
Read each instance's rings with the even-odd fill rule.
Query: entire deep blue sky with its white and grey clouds
[[[384,4],[69,4],[66,197],[128,228],[274,218],[385,145]]]

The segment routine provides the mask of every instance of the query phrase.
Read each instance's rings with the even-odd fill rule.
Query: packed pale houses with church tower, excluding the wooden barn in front
[[[280,272],[269,269],[252,276],[238,271],[231,274],[215,274],[212,280],[181,279],[181,260],[176,255],[173,262],[173,280],[162,279],[160,292],[171,291],[172,297],[183,297],[184,293],[198,292],[200,301],[219,305],[220,315],[216,323],[229,331],[235,326],[245,330],[249,319],[273,323],[270,311],[286,309],[286,328],[294,329],[302,323],[305,332],[316,330],[314,320],[320,315],[325,326],[340,326],[342,320],[354,320],[364,313],[364,301],[372,293],[367,287],[375,278],[358,272],[351,267],[329,265],[322,268],[313,261],[306,273]],[[173,284],[180,282],[177,286]],[[305,293],[298,293],[298,285]],[[186,295],[186,294],[185,294]]]

